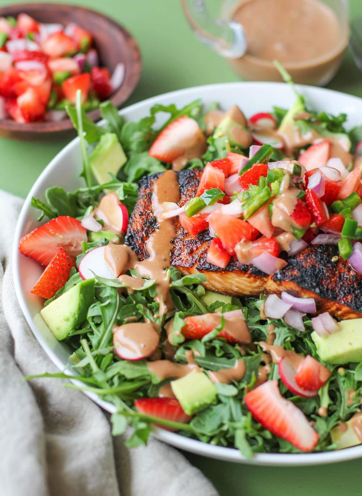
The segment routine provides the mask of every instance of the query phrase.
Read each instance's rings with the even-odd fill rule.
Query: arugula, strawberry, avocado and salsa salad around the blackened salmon
[[[359,277],[362,127],[347,132],[346,116],[307,110],[301,95],[288,111],[249,120],[238,107],[205,114],[197,100],[125,123],[103,105],[99,127],[78,91],[86,186],[33,198],[39,220],[50,220],[19,243],[45,267],[32,293],[73,349],[69,367],[83,386],[71,387],[116,405],[113,433],[129,422],[129,446],[147,442],[155,425],[248,458],[361,444],[362,320],[337,321],[286,291],[247,299],[205,290],[205,275],[182,276],[169,252],[178,217],[191,236],[208,232],[215,270],[236,256],[273,274],[309,244],[334,244]],[[156,130],[159,112],[169,119]],[[203,169],[196,196],[172,201],[172,169],[195,167]],[[137,181],[155,173],[164,173],[154,176],[159,229],[146,244],[150,261],[140,262],[123,237]],[[170,244],[157,258],[151,248],[162,236]]]

